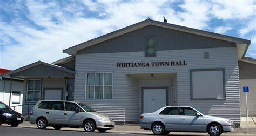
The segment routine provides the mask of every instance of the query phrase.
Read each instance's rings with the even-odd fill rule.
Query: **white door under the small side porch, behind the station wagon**
[[[44,90],[44,100],[62,100],[62,90]]]

